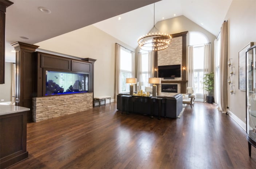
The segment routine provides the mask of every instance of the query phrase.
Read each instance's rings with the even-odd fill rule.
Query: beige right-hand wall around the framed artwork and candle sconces
[[[233,0],[225,20],[228,20],[228,58],[232,58],[232,65],[235,66],[232,78],[235,94],[228,92],[228,106],[233,114],[245,122],[245,91],[238,88],[238,52],[249,42],[256,41],[256,1]]]

